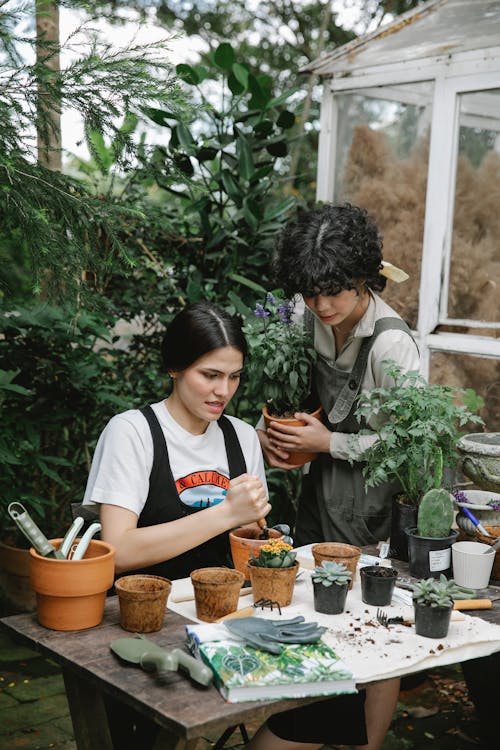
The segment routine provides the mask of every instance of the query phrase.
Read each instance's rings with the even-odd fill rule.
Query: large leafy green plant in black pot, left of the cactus
[[[426,492],[441,488],[443,471],[458,468],[461,428],[482,423],[475,412],[483,402],[470,389],[429,384],[390,360],[385,369],[393,387],[362,393],[356,415],[378,437],[362,457],[366,486],[389,481],[401,486],[392,508],[390,554],[407,560],[405,528],[417,525],[418,506]]]

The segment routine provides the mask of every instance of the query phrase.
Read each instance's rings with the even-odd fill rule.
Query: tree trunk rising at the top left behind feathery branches
[[[61,170],[61,110],[54,90],[47,83],[60,71],[59,6],[57,0],[36,0],[36,59],[45,68],[38,80],[38,163]]]

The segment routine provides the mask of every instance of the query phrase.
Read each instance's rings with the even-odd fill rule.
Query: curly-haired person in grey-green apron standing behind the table
[[[394,271],[394,267],[388,265]],[[324,205],[303,214],[283,231],[275,272],[290,297],[304,299],[305,324],[318,352],[314,384],[323,406],[323,421],[298,413],[305,427],[272,423],[258,434],[270,466],[284,463],[290,451],[314,451],[314,491],[302,493],[295,538],[297,544],[339,541],[356,545],[386,539],[391,498],[397,485],[365,490],[361,461],[348,461],[353,440],[357,453],[373,444],[373,435],[353,436],[370,425],[354,416],[360,392],[390,388],[384,367],[393,360],[404,372],[418,370],[418,351],[400,316],[376,292],[390,274],[382,262],[382,241],[366,211],[349,204]],[[306,483],[307,486],[307,483]]]

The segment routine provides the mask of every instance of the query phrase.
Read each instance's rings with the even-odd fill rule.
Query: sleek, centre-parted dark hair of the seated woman
[[[239,319],[210,302],[195,302],[169,324],[161,345],[163,366],[180,372],[223,346],[233,346],[245,358],[247,342]]]

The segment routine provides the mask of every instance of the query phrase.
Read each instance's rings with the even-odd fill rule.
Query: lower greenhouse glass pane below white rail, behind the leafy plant
[[[456,388],[473,388],[482,396],[481,410],[485,427],[474,425],[470,432],[500,432],[500,362],[486,357],[466,354],[433,352],[430,361],[431,383],[442,383]]]

